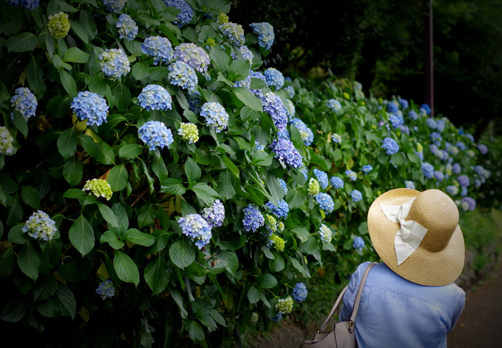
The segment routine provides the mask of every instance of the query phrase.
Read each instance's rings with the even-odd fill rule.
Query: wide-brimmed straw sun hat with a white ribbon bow
[[[458,209],[442,191],[384,193],[369,208],[368,230],[386,265],[411,282],[444,286],[462,272],[464,238]]]

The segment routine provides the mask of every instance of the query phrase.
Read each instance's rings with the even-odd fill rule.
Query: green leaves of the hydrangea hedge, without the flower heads
[[[429,151],[432,130],[427,117],[414,122],[407,118],[410,134],[405,128],[388,129],[384,124],[389,116],[380,110],[386,103],[366,99],[351,86],[337,88],[333,76],[321,84],[287,80],[296,93],[293,98],[284,89],[276,91],[284,102],[291,99],[295,116],[313,133],[313,142],[305,145],[306,130],[286,127],[302,156],[307,180],[299,170],[282,165],[269,147],[277,139],[276,120],[253,92],[234,86],[248,77],[249,66],[260,69],[268,52],[262,55],[248,40],[253,64],[234,59],[241,57],[239,48],[205,16],[227,13],[230,3],[189,3],[194,18],[180,30],[171,23],[179,10],[160,1],[129,0],[121,11],[139,27],[132,41],[118,38],[118,16],[101,2],[51,0],[31,12],[7,2],[0,5],[4,19],[10,18],[1,28],[8,50],[0,56],[0,112],[2,124],[15,138],[12,151],[0,154],[0,280],[6,289],[0,318],[10,325],[6,330],[30,325],[53,346],[117,346],[122,339],[138,346],[172,346],[174,333],[182,342],[202,346],[219,346],[223,337],[239,344],[251,327],[252,312],[258,313],[261,325],[268,325],[268,318],[277,314],[277,299],[290,295],[296,282],[308,284],[311,275],[326,266],[335,278],[345,279],[358,263],[376,257],[365,215],[380,193],[405,187],[405,180],[413,180],[419,190],[458,185],[451,172],[439,185],[422,175],[417,142],[425,148],[426,161],[437,170],[449,170],[447,161]],[[46,22],[59,11],[68,13],[72,30],[54,40]],[[175,47],[194,43],[209,52],[211,62],[206,72],[197,72],[196,91],[204,103],[224,107],[228,124],[223,131],[202,120],[192,105],[194,96],[172,83],[167,68],[171,62],[155,64],[143,53],[142,43],[154,35],[169,38]],[[209,39],[216,45],[206,45]],[[121,48],[132,64],[132,70],[116,80],[104,74],[98,58],[111,48]],[[139,95],[154,83],[171,96],[170,109],[142,107]],[[251,83],[263,93],[270,91],[261,79]],[[11,102],[22,85],[38,102],[35,117],[27,122]],[[87,124],[89,119],[73,113],[71,103],[83,91],[104,98],[106,122]],[[341,110],[329,109],[330,99],[338,100]],[[413,103],[410,109],[419,112]],[[139,129],[150,121],[162,122],[172,132],[169,146],[154,144],[150,150],[151,144],[145,144]],[[196,125],[198,141],[178,136],[182,122]],[[334,133],[341,136],[340,144],[333,142]],[[441,145],[462,140],[478,151],[448,121],[442,136]],[[385,153],[381,146],[386,137],[397,141],[398,153]],[[465,153],[455,154],[455,160],[477,178],[470,168],[476,153]],[[373,169],[365,174],[366,164]],[[333,211],[322,209],[308,195],[314,169],[344,179],[344,188],[322,189],[333,198]],[[346,169],[356,172],[355,181],[348,181]],[[92,179],[102,179],[106,189],[109,185],[109,201],[99,192],[82,191]],[[287,193],[278,179],[286,183]],[[355,202],[353,190],[363,199]],[[476,192],[469,195],[476,198]],[[269,202],[281,203],[283,209],[289,205],[287,214],[276,216],[282,227],[268,226],[275,228],[284,248],[267,246],[270,233],[265,226],[253,232],[243,223],[243,209],[249,204],[264,215],[273,214]],[[217,223],[206,217],[211,224],[207,240],[190,234],[184,225],[187,216],[206,216],[207,208],[219,203],[224,217]],[[35,239],[23,231],[39,209],[54,221],[52,239]],[[204,225],[202,215],[199,223]],[[321,241],[321,224],[330,229],[331,242]],[[194,229],[200,232],[202,227]],[[361,251],[352,248],[355,236],[366,241]],[[107,280],[114,293],[96,293]]]

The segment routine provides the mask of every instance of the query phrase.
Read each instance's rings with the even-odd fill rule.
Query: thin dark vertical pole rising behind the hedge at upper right
[[[424,0],[424,67],[425,102],[431,107],[434,117],[434,67],[432,44],[432,0]]]

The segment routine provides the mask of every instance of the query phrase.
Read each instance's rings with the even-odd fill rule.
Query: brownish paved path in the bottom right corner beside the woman
[[[502,264],[471,292],[453,330],[448,348],[502,347]]]

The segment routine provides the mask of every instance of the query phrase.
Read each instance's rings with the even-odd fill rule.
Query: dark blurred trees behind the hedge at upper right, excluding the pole
[[[424,93],[423,0],[233,0],[230,21],[248,32],[253,22],[274,26],[265,60],[286,75],[361,82],[366,95]],[[456,126],[498,132],[502,108],[502,1],[434,0],[436,116]]]

